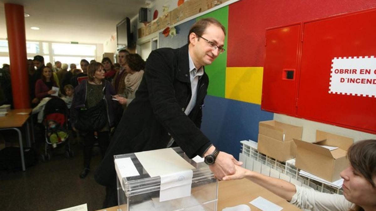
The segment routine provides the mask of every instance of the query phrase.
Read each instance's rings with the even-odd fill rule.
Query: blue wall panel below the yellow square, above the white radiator
[[[257,141],[258,123],[273,119],[258,104],[206,96],[201,130],[220,149],[239,159],[241,140]]]

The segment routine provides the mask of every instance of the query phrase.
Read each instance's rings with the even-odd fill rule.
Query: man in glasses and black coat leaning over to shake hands
[[[95,175],[96,181],[106,186],[105,207],[117,204],[116,154],[180,146],[190,158],[205,157],[218,179],[235,173],[235,164],[241,165],[232,155],[215,149],[200,131],[209,84],[204,65],[224,51],[224,37],[224,27],[214,18],[206,18],[192,26],[187,45],[150,53],[136,98],[121,118]]]

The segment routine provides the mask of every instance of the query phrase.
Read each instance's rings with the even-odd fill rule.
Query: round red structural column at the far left
[[[29,74],[27,72],[25,17],[22,5],[6,3],[5,19],[11,60],[12,94],[15,109],[30,108]]]

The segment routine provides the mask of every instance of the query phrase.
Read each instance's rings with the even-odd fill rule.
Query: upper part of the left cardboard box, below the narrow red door
[[[289,125],[274,120],[259,122],[259,134],[269,136],[280,141],[301,139],[303,127]]]

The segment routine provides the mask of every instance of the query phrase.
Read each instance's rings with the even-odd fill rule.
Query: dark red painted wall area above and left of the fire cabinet
[[[227,66],[264,65],[265,29],[376,7],[376,0],[241,0],[229,5]]]

